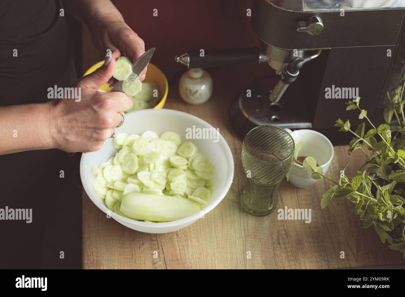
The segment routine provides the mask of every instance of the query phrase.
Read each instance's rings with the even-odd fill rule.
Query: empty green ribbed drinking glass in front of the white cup
[[[278,187],[293,166],[294,140],[277,126],[258,126],[245,136],[242,165],[246,184],[241,205],[252,215],[264,216],[277,205]]]

